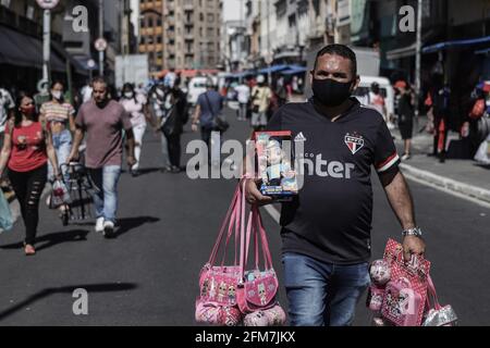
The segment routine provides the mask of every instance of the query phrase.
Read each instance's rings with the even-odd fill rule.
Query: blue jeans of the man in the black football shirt
[[[286,252],[282,257],[292,326],[348,326],[370,281],[368,263],[340,265]]]

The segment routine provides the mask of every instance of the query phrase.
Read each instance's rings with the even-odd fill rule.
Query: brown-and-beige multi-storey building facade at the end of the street
[[[139,1],[139,52],[150,73],[170,69],[216,69],[220,62],[219,0]]]

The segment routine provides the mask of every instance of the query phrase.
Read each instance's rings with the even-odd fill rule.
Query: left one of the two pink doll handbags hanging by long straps
[[[241,209],[240,187],[236,188],[232,203],[221,225],[220,233],[209,257],[199,274],[199,296],[196,300],[195,319],[198,323],[215,325],[237,325],[242,320],[242,313],[236,303],[236,288],[240,277],[237,262],[237,243],[240,238]],[[228,233],[226,232],[228,226]],[[226,249],[231,237],[235,235],[234,263],[224,265]],[[226,238],[224,239],[224,237]],[[221,264],[216,264],[216,259],[222,248]]]

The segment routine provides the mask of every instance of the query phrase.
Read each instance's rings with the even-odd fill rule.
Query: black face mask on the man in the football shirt
[[[326,107],[339,107],[351,97],[353,82],[340,83],[331,78],[313,80],[315,98]]]

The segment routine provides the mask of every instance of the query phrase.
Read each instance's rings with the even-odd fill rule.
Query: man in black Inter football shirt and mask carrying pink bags
[[[267,127],[291,130],[304,146],[303,154],[296,152],[304,185],[292,202],[282,203],[280,221],[290,323],[350,325],[370,283],[371,166],[402,225],[405,260],[424,253],[425,243],[382,115],[351,97],[359,84],[355,53],[327,46],[317,54],[310,80],[314,97],[282,107]],[[248,202],[272,202],[260,195],[258,183],[247,179]]]

